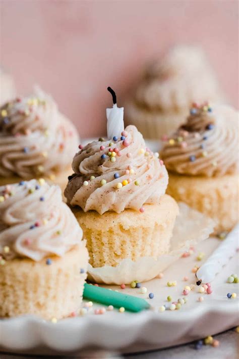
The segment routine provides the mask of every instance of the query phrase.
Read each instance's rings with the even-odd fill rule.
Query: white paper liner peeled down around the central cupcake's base
[[[183,252],[200,241],[209,237],[213,232],[214,221],[202,213],[193,210],[185,203],[178,203],[180,214],[177,216],[170,243],[170,251],[160,255],[157,260],[152,257],[142,257],[136,262],[124,259],[118,266],[93,268],[88,265],[88,279],[104,284],[130,284],[134,280],[145,282],[155,278]]]

